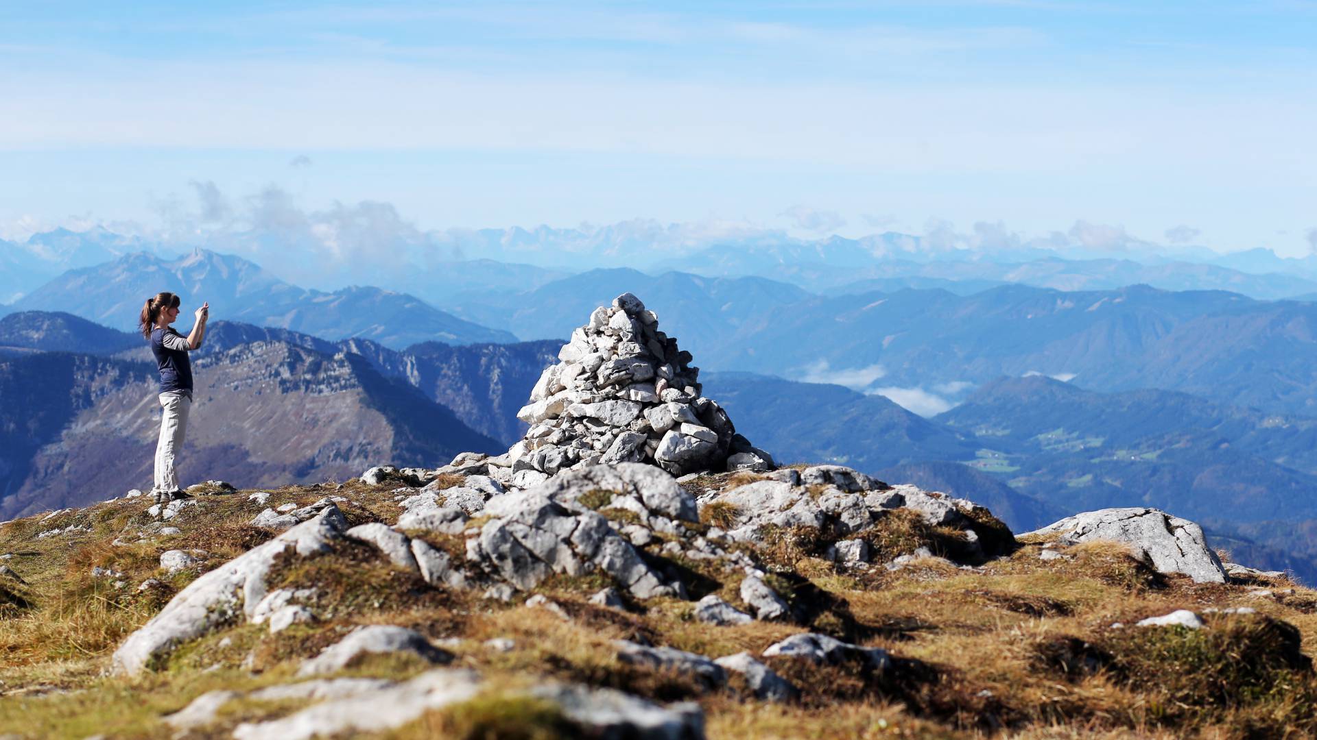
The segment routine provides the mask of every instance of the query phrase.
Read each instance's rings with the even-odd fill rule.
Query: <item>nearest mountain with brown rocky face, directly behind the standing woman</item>
[[[195,367],[179,462],[190,482],[279,486],[500,449],[357,356],[254,342]],[[51,353],[0,363],[0,517],[150,487],[159,408],[148,363]]]

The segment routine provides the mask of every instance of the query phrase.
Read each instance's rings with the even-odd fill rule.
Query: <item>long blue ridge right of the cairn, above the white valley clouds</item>
[[[939,392],[952,403],[957,391],[939,388],[1040,373],[1093,390],[1163,387],[1267,412],[1312,413],[1314,333],[1317,304],[1216,291],[910,290],[780,307],[701,359],[797,377],[819,365],[832,373],[878,369],[867,388]]]

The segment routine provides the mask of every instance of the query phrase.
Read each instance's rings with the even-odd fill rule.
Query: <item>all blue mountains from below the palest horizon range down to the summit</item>
[[[67,246],[76,234],[54,242]],[[103,253],[61,254],[80,259],[120,246],[140,245],[109,240]],[[213,363],[207,403],[225,410],[216,428],[257,446],[199,437],[211,452],[194,460],[207,477],[246,475],[252,485],[508,444],[524,429],[515,411],[561,340],[594,305],[632,291],[694,353],[707,394],[738,428],[770,452],[790,450],[786,461],[835,461],[950,490],[1017,528],[1085,508],[1160,506],[1202,520],[1258,562],[1317,575],[1317,546],[1292,533],[1308,529],[1274,524],[1317,520],[1317,305],[1148,286],[1058,291],[1019,284],[1019,271],[982,278],[948,261],[928,265],[943,271],[872,282],[852,270],[828,295],[795,284],[795,267],[770,279],[522,265],[502,290],[427,283],[449,302],[437,307],[433,296],[381,288],[298,287],[233,255],[130,250],[47,279],[0,320],[0,427],[11,435],[0,511],[101,496],[100,483],[61,489],[79,475],[95,479],[82,460],[149,463],[141,453],[153,444],[155,410],[141,399],[151,395],[151,373],[132,323],[154,290],[211,300],[216,320],[198,357]],[[1058,265],[1026,266],[1046,274]],[[1117,267],[1126,269],[1115,265],[1113,275]],[[1079,269],[1093,278],[1092,261]],[[524,290],[514,290],[519,279],[529,280]],[[111,319],[120,330],[95,323]],[[518,336],[547,341],[518,344]],[[74,367],[68,374],[42,377],[51,352],[82,357],[61,361]],[[259,384],[253,378],[300,384],[244,396]],[[296,424],[259,411],[294,417],[290,410],[302,407],[321,411]],[[317,416],[331,408],[333,419]],[[427,425],[408,410],[441,423]],[[337,425],[342,417],[361,423]],[[254,424],[263,431],[249,435]],[[303,435],[307,424],[332,435]],[[392,441],[367,442],[358,432]],[[281,449],[281,433],[308,440],[286,444],[287,454],[267,452]],[[149,483],[148,467],[105,470],[125,479],[146,470],[134,485]]]

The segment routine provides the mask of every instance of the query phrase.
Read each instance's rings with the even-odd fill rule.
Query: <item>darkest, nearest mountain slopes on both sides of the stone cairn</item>
[[[198,428],[204,417],[207,431],[190,437],[188,473],[273,486],[378,462],[441,462],[456,448],[502,449],[523,433],[515,412],[558,344],[398,352],[217,321],[198,353]],[[92,346],[108,356],[86,354]],[[63,352],[72,348],[84,353]],[[148,485],[158,411],[138,337],[68,315],[18,313],[0,320],[0,352],[9,354],[0,361],[0,512]],[[1252,562],[1317,578],[1317,548],[1271,524],[1317,520],[1314,419],[1042,377],[989,382],[925,419],[835,384],[703,379],[738,429],[782,462],[838,462],[964,495],[1017,531],[1079,510],[1156,506],[1204,521]]]

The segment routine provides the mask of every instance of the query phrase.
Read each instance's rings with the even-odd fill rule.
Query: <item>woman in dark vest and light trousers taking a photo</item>
[[[196,324],[186,337],[174,330],[170,324],[178,320],[179,299],[171,292],[155,294],[142,305],[140,329],[142,337],[151,342],[155,366],[161,373],[161,438],[155,445],[155,483],[151,492],[157,503],[187,498],[178,485],[178,471],[174,458],[183,446],[183,433],[187,432],[187,412],[192,407],[192,363],[187,353],[202,346],[205,336],[205,320],[209,317],[209,303],[196,309]]]

